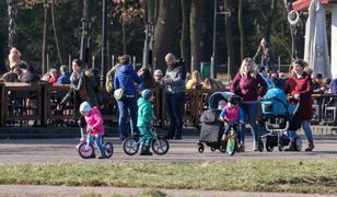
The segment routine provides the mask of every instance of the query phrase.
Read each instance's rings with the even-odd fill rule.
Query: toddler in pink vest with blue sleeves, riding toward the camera
[[[244,124],[244,113],[242,108],[239,106],[239,97],[232,96],[224,108],[221,111],[220,120],[228,120],[228,121],[237,121],[241,125]],[[239,126],[237,130],[237,141],[239,141],[239,151],[244,151],[244,134],[242,131],[241,125]],[[228,132],[230,129],[230,125],[224,121],[224,134],[223,140],[226,139]]]

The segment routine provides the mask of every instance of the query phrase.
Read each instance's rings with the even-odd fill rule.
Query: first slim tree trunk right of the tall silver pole
[[[223,1],[224,11],[230,10],[229,0]],[[228,67],[230,67],[230,73],[228,73],[228,78],[233,79],[237,68],[234,68],[234,47],[233,47],[233,33],[232,33],[232,19],[230,16],[224,16],[224,26],[225,26],[225,43],[226,43],[226,53],[230,58],[230,62],[228,62]],[[229,69],[228,69],[229,70]]]

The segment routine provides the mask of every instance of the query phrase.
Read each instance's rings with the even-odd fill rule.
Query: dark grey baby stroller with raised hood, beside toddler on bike
[[[218,105],[222,100],[228,102],[232,95],[234,94],[231,92],[214,92],[210,95],[208,100],[209,109],[202,112],[200,117],[201,128],[200,140],[198,142],[198,151],[200,153],[205,150],[204,143],[210,147],[211,151],[216,151],[217,149],[223,153],[226,151],[226,142],[221,140],[224,127],[218,120],[221,113],[221,109],[218,109]]]

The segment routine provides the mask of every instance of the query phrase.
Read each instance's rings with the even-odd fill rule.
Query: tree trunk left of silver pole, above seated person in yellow
[[[197,70],[204,56],[202,42],[204,0],[191,0],[190,5],[190,70]]]

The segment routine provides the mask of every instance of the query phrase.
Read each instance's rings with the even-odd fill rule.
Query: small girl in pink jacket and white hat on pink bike
[[[103,118],[97,107],[91,107],[88,102],[83,102],[80,105],[80,113],[84,116],[86,123],[86,146],[95,141],[100,151],[98,159],[105,158],[104,147],[102,144],[102,138],[104,136]]]

